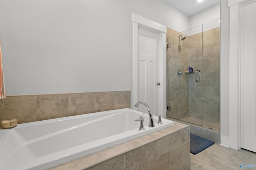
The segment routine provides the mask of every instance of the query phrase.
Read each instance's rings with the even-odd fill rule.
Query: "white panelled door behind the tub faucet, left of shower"
[[[159,114],[159,34],[138,28],[138,101],[150,106],[152,113]],[[146,113],[145,106],[139,111]]]

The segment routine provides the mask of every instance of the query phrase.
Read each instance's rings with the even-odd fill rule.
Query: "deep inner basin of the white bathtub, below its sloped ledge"
[[[132,116],[132,113],[127,111],[104,115],[100,118],[97,117],[96,120],[81,123],[80,125],[76,124],[70,128],[39,136],[26,141],[24,145],[33,158],[43,156],[136,129],[139,127],[138,122],[122,121],[132,120]]]

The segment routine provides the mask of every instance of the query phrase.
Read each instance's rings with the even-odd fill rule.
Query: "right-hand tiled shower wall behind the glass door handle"
[[[203,119],[203,126],[206,127],[205,121],[219,124],[220,27],[192,35],[189,40],[189,62],[191,66],[201,70],[202,80],[195,82],[194,76],[189,79],[190,117]]]

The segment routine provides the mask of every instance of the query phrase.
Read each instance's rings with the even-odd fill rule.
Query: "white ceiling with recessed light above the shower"
[[[181,12],[192,16],[210,6],[218,4],[221,0],[204,0],[202,2],[197,2],[197,0],[164,0],[171,6],[177,8]]]

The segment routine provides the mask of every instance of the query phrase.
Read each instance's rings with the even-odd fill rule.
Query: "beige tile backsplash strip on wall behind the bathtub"
[[[130,91],[7,96],[0,102],[0,120],[18,123],[130,108]]]

